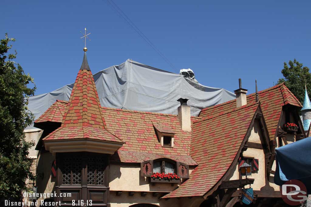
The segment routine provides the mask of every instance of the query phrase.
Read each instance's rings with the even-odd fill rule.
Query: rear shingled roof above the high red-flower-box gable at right
[[[259,91],[259,101],[262,107],[263,116],[265,118],[269,137],[271,140],[274,139],[276,135],[277,124],[280,119],[282,107],[284,105],[293,105],[302,107],[299,100],[295,97],[295,95],[290,92],[290,90],[284,85],[284,83],[280,83],[271,88]],[[252,93],[247,96],[247,102],[251,103],[255,101],[256,94]],[[235,99],[231,101],[227,101],[222,104],[218,104],[216,106],[207,107],[201,110],[200,117],[209,117],[211,115],[221,115],[230,111],[236,107]]]

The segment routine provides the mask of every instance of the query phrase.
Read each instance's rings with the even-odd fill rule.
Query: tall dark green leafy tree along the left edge
[[[27,178],[34,180],[30,172],[28,149],[34,143],[26,142],[24,129],[34,119],[27,109],[28,97],[34,95],[35,86],[28,88],[33,79],[15,63],[14,54],[7,54],[14,38],[0,40],[0,198],[19,198],[26,190]],[[34,84],[35,85],[35,84]]]

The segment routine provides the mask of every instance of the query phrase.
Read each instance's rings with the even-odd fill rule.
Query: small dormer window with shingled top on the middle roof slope
[[[161,146],[174,147],[175,131],[169,125],[153,123],[153,126]]]

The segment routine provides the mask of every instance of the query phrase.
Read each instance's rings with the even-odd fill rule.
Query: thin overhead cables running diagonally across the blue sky
[[[108,2],[108,5],[114,9],[118,15],[123,19],[125,20],[128,25],[130,25],[134,30],[135,32],[143,39],[145,40],[146,43],[149,44],[149,46],[154,50],[156,51],[156,53],[158,53],[174,70],[178,71],[177,68],[165,57],[165,55],[160,52],[160,50],[158,50],[156,48],[156,46],[150,41],[150,39],[148,39],[146,37],[146,35],[132,22],[132,20],[130,18],[128,18],[128,16],[120,9],[120,7],[118,7],[117,4],[114,3],[113,0],[107,0]]]

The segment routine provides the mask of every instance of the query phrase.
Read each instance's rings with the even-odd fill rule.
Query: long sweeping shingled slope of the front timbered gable
[[[190,178],[163,198],[203,196],[228,171],[259,104],[256,102],[207,116],[193,123],[190,155],[198,166]]]

